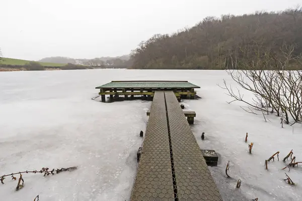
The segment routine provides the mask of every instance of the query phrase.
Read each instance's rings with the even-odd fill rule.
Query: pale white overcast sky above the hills
[[[280,11],[301,0],[0,0],[4,57],[94,58],[128,54],[156,33],[194,26],[206,16]]]

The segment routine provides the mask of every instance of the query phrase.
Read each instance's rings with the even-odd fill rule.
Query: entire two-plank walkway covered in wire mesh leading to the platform
[[[131,200],[222,200],[173,91],[155,91]]]

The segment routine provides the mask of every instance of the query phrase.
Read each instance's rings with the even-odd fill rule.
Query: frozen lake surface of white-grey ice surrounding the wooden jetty
[[[302,200],[302,167],[281,170],[291,149],[302,161],[301,124],[281,128],[279,117],[269,115],[265,122],[262,114],[241,109],[243,103],[226,103],[232,99],[217,86],[222,79],[230,81],[224,71],[1,72],[0,175],[79,166],[47,177],[23,174],[25,186],[19,191],[17,181],[8,177],[0,184],[1,199],[33,200],[39,194],[43,201],[129,200],[142,144],[138,134],[145,130],[152,102],[101,103],[91,100],[98,95],[95,87],[112,80],[188,80],[201,87],[197,95],[202,99],[183,104],[197,114],[192,130],[200,148],[219,154],[218,166],[209,169],[223,200]],[[254,143],[252,154],[246,132],[248,143]],[[264,161],[277,151],[280,161],[269,162],[265,170]],[[224,173],[228,161],[231,179]],[[284,172],[295,186],[283,180]]]

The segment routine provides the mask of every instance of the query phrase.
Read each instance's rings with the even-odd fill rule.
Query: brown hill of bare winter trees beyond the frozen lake
[[[280,51],[296,44],[302,52],[302,9],[220,18],[206,17],[172,35],[154,35],[132,50],[134,69],[236,69],[255,49]]]

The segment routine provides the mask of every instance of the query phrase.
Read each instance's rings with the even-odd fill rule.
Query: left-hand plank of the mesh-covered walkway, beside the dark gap
[[[153,98],[131,200],[174,200],[164,91]],[[165,198],[165,199],[161,199]]]

